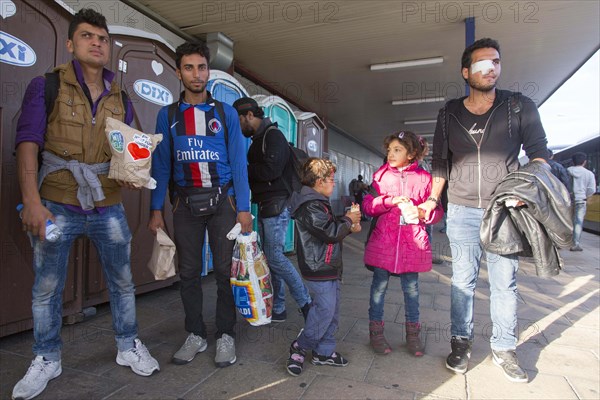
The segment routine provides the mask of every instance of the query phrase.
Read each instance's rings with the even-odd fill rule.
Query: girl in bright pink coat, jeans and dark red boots
[[[376,353],[392,351],[383,335],[383,306],[390,275],[400,276],[404,292],[406,343],[423,355],[419,338],[419,272],[431,270],[431,244],[425,225],[442,218],[439,206],[424,220],[416,204],[431,193],[431,175],[419,167],[427,142],[413,132],[394,133],[384,140],[387,162],[373,174],[373,189],[363,200],[363,212],[377,218],[365,248],[365,265],[373,269],[369,307],[369,337]],[[374,193],[376,192],[376,193]],[[421,211],[421,212],[420,212]]]

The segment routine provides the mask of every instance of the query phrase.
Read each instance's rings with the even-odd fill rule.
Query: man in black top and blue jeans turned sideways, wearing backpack
[[[290,221],[288,199],[292,193],[291,150],[277,123],[264,116],[256,100],[243,97],[233,103],[242,133],[252,138],[248,149],[248,180],[252,201],[258,203],[258,233],[273,277],[272,322],[283,322],[285,286],[304,318],[310,307],[310,295],[291,261],[283,254],[285,234]]]

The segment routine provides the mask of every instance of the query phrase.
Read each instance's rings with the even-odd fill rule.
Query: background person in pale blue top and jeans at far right
[[[571,251],[583,251],[581,248],[581,232],[583,219],[587,208],[587,199],[596,193],[596,177],[589,169],[585,168],[587,155],[575,153],[571,156],[573,166],[568,168],[569,175],[573,177],[573,246]]]

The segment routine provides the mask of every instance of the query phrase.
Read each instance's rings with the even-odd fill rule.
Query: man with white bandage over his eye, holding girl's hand
[[[462,55],[461,72],[470,94],[440,110],[433,139],[431,197],[419,207],[429,214],[448,183],[447,230],[452,249],[451,346],[446,367],[467,371],[473,331],[473,301],[481,256],[481,220],[502,178],[519,167],[521,145],[532,161],[548,157],[546,134],[533,101],[496,89],[500,46],[480,39]],[[490,283],[493,361],[513,382],[527,382],[517,347],[516,255],[486,252]]]

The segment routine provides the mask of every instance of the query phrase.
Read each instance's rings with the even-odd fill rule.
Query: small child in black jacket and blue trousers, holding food
[[[348,361],[335,352],[335,331],[340,311],[342,240],[360,232],[360,211],[335,217],[329,203],[333,194],[335,165],[309,158],[302,168],[302,190],[291,199],[298,236],[298,265],[312,295],[312,306],[304,330],[290,346],[287,371],[302,373],[306,351],[311,363],[345,367]]]

